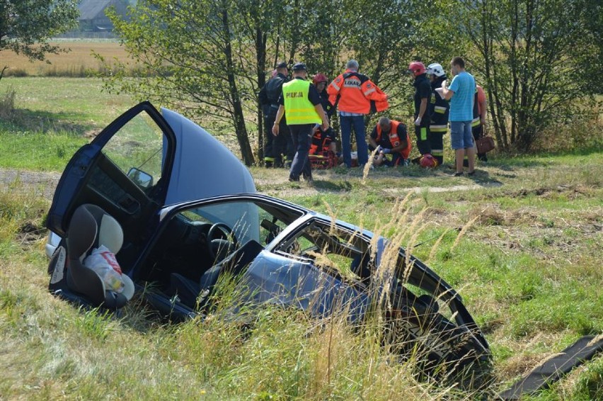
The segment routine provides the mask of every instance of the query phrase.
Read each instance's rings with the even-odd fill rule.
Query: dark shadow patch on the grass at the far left
[[[93,124],[75,123],[74,120],[79,118],[80,115],[73,113],[16,109],[0,124],[11,131],[63,132],[74,137],[94,136],[101,132],[101,128],[96,128]]]

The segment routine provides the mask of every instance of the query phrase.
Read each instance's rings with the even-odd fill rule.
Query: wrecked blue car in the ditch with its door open
[[[257,193],[221,142],[149,102],[74,154],[47,227],[50,291],[79,305],[119,310],[139,295],[187,320],[211,311],[214,288],[230,276],[245,288],[240,305],[301,308],[316,319],[343,313],[353,324],[379,311],[384,339],[418,344],[434,363],[490,356],[461,296],[422,261],[372,232]],[[84,264],[101,242],[115,247],[125,293]]]

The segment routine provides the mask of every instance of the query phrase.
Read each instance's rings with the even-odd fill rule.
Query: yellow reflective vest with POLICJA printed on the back
[[[282,97],[285,99],[285,118],[287,125],[320,124],[322,119],[308,98],[310,82],[304,79],[292,79],[282,85]]]

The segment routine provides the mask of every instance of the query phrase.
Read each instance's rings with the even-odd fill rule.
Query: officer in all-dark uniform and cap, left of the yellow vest
[[[278,63],[276,66],[276,75],[266,82],[258,94],[260,104],[262,105],[266,133],[266,141],[264,143],[264,165],[266,167],[283,166],[282,154],[285,154],[285,163],[287,161],[290,163],[293,159],[293,142],[285,120],[282,120],[280,128],[282,135],[278,137],[272,135],[272,124],[275,122],[279,106],[278,98],[281,94],[282,85],[289,81],[287,74],[289,74],[287,63]]]

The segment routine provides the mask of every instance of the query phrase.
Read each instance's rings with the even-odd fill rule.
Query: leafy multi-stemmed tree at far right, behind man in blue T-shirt
[[[586,0],[461,4],[456,21],[477,50],[469,58],[473,72],[484,80],[500,147],[529,150],[546,128],[585,117],[579,100],[600,91],[595,81],[600,82],[602,74],[600,4]]]

